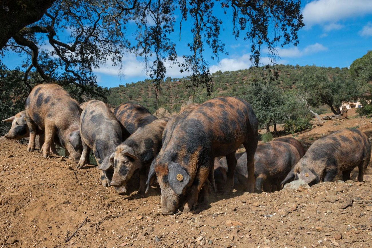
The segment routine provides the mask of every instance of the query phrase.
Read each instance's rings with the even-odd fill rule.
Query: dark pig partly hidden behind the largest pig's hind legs
[[[278,180],[282,180],[292,167],[300,160],[295,146],[282,142],[270,141],[259,144],[254,154],[254,176],[256,177],[256,192],[261,193],[280,190]],[[247,183],[247,155],[243,153],[237,161],[234,184],[237,189],[245,188]],[[219,160],[215,165],[215,180],[217,187],[223,189],[225,185],[227,164]]]

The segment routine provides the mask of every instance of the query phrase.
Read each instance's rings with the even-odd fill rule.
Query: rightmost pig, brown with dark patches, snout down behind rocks
[[[350,180],[350,172],[357,166],[358,181],[371,158],[371,144],[367,136],[357,129],[343,129],[315,141],[282,181],[292,177],[302,179],[310,186],[321,180],[328,182],[342,171],[342,180]]]

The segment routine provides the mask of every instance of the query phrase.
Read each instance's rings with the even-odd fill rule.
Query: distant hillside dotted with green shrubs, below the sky
[[[275,65],[274,69],[278,73],[277,83],[282,88],[295,87],[296,81],[300,76],[301,71],[305,67],[299,65]],[[328,77],[347,72],[347,68],[323,68],[317,67],[319,70],[325,70]],[[158,96],[158,107],[163,107],[170,113],[178,112],[182,104],[203,103],[211,97],[217,96],[238,96],[243,97],[247,94],[247,85],[250,84],[255,77],[266,77],[267,71],[261,68],[260,72],[253,68],[237,70],[237,71],[217,71],[211,74],[211,80],[214,84],[211,96],[208,96],[206,89],[202,86],[197,88],[188,88],[190,86],[189,77],[183,78],[166,78],[161,85],[161,91]],[[271,72],[270,74],[274,74]],[[269,75],[269,76],[270,76]],[[124,102],[137,102],[142,106],[147,107],[151,113],[155,112],[155,91],[152,80],[138,81],[136,83],[128,83],[125,86],[119,85],[109,89],[108,103],[117,106]],[[249,101],[249,100],[248,100]]]

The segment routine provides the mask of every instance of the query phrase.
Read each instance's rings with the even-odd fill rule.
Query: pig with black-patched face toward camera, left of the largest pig
[[[150,164],[161,148],[161,137],[168,118],[157,119],[138,128],[124,142],[115,148],[108,164],[101,164],[98,168],[106,170],[115,168],[111,186],[126,188],[126,183],[134,171],[139,170],[140,187],[137,194],[145,193],[147,174]]]

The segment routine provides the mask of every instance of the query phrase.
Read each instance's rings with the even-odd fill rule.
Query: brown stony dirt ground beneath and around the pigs
[[[295,137],[306,148],[346,127],[371,137],[371,122],[349,113],[348,120]],[[93,165],[77,169],[67,158],[44,159],[26,148],[0,138],[1,247],[372,247],[371,167],[365,183],[336,179],[300,191],[234,190],[192,213],[163,216],[155,187],[146,196],[119,196],[99,185]]]

